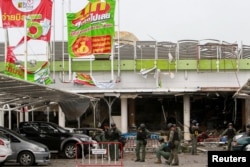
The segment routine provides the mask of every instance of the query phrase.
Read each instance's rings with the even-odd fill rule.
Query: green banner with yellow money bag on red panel
[[[107,54],[115,32],[116,0],[91,0],[77,13],[67,13],[70,57]]]

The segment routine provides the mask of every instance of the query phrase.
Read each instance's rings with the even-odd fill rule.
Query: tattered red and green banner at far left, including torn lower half
[[[24,65],[18,63],[14,49],[30,40],[50,41],[52,5],[52,0],[0,0],[3,28],[27,27],[27,34],[24,34],[27,41],[22,37],[16,46],[7,46],[5,74],[24,79],[27,71],[28,81],[51,83],[47,61],[38,69],[25,71]]]

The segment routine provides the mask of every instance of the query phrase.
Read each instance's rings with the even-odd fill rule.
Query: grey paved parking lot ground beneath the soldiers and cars
[[[206,167],[207,166],[207,152],[206,150],[223,150],[223,147],[216,146],[208,146],[208,147],[200,147],[198,155],[191,155],[190,153],[181,153],[179,154],[179,166],[182,167]],[[135,153],[134,152],[126,152],[124,153],[123,158],[123,166],[124,167],[160,167],[160,166],[168,166],[166,164],[154,164],[156,161],[154,153],[147,153],[146,162],[134,162]],[[163,160],[163,159],[162,159]],[[107,160],[106,160],[107,161]],[[165,162],[165,161],[163,161]],[[114,163],[114,162],[111,162]],[[17,167],[18,164],[10,164],[7,163],[4,166],[6,167]],[[52,158],[49,165],[38,165],[38,166],[47,166],[47,167],[78,167],[76,165],[75,160],[69,159],[61,159],[61,158]],[[93,166],[93,165],[92,165]],[[109,165],[106,165],[109,166]],[[110,165],[111,166],[111,165]]]

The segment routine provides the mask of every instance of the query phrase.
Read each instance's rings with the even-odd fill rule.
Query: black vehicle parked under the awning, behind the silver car
[[[52,122],[21,122],[19,124],[19,133],[31,140],[45,144],[51,153],[63,153],[66,158],[72,159],[89,153],[90,147],[77,143],[95,142],[92,138],[85,134],[70,133],[67,129],[60,127]],[[91,147],[93,145],[90,144]],[[76,151],[78,150],[78,151]]]

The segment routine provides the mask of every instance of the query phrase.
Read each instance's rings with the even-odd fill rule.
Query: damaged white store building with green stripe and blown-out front
[[[5,104],[15,99],[22,99],[22,107],[22,104],[27,103],[36,106],[33,103],[38,103],[39,98],[33,101],[25,97],[30,96],[29,92],[43,88],[38,94],[45,95],[42,103],[50,102],[46,106],[53,105],[53,102],[59,104],[65,99],[75,99],[76,95],[99,99],[91,102],[90,110],[94,112],[88,125],[96,127],[103,121],[102,116],[105,117],[102,113],[106,112],[109,121],[117,122],[122,132],[127,132],[129,127],[141,122],[160,129],[161,127],[156,125],[174,120],[183,125],[184,137],[189,139],[188,127],[191,119],[198,119],[207,128],[216,127],[217,122],[213,122],[214,119],[223,123],[233,122],[238,128],[250,122],[248,45],[239,46],[237,43],[213,39],[180,40],[176,43],[119,39],[115,43],[113,54],[103,57],[93,55],[86,60],[70,59],[66,49],[62,48],[67,42],[63,45],[62,43],[55,42],[55,54],[51,53],[51,76],[54,83],[47,87],[36,85],[36,89],[30,89],[33,84],[22,86],[22,83],[26,82],[17,81],[13,86],[18,85],[18,91],[12,89],[12,86],[8,89],[1,87],[2,114],[12,110],[6,110]],[[3,71],[3,44],[0,51],[0,70]],[[98,84],[89,86],[74,82],[79,73],[88,74],[94,83],[112,83],[112,86],[98,87]],[[3,84],[8,77],[1,77]],[[54,92],[53,89],[59,91]],[[14,92],[5,94],[6,90]],[[15,91],[16,97],[6,98],[15,94]],[[65,91],[63,95],[61,91]],[[22,95],[18,97],[18,94]],[[65,106],[64,111],[72,113],[73,106],[79,103],[81,102],[73,105],[65,103],[66,105],[57,106],[57,109],[51,107],[46,111],[49,112],[52,108],[53,111],[60,111],[61,107]],[[87,122],[79,118],[78,121]],[[30,118],[27,116],[24,119]],[[22,120],[21,116],[19,121]],[[59,116],[59,120],[59,124],[65,126],[64,116]],[[3,119],[1,122],[4,124]],[[81,123],[78,126],[81,126]]]

